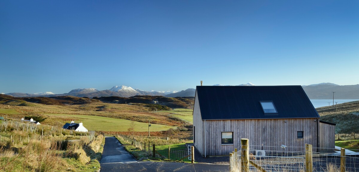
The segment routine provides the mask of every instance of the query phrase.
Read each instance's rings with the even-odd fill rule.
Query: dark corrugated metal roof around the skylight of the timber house
[[[320,118],[302,86],[197,86],[202,119]],[[277,114],[265,114],[272,101]]]

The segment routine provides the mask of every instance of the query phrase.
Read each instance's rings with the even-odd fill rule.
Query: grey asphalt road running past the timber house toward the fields
[[[106,137],[103,149],[101,172],[228,172],[228,165],[179,162],[137,162],[125,151],[115,137]]]

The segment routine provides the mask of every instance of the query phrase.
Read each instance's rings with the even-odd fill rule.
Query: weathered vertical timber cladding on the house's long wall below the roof
[[[305,144],[318,147],[317,122],[314,119],[207,120],[206,154],[207,156],[227,156],[234,148],[241,146],[241,138],[248,138],[250,146],[257,146],[251,147],[254,149],[274,146],[270,149],[279,151],[282,144],[287,146],[286,151],[303,151]],[[303,131],[303,138],[297,138],[297,131]],[[222,132],[233,132],[233,144],[221,144]],[[262,144],[264,147],[261,146]]]

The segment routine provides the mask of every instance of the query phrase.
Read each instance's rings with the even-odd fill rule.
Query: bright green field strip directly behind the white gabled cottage
[[[90,115],[68,115],[68,114],[46,114],[48,116],[59,116],[65,118],[73,118],[76,123],[82,121],[84,127],[90,131],[127,131],[130,128],[131,120],[115,119],[101,116]],[[70,122],[70,121],[68,121]],[[151,124],[151,131],[166,131],[169,128],[176,128],[160,124]],[[135,131],[148,131],[148,123],[135,121]]]

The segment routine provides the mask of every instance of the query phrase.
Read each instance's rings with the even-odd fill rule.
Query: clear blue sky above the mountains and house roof
[[[359,84],[359,1],[0,1],[0,93]]]

